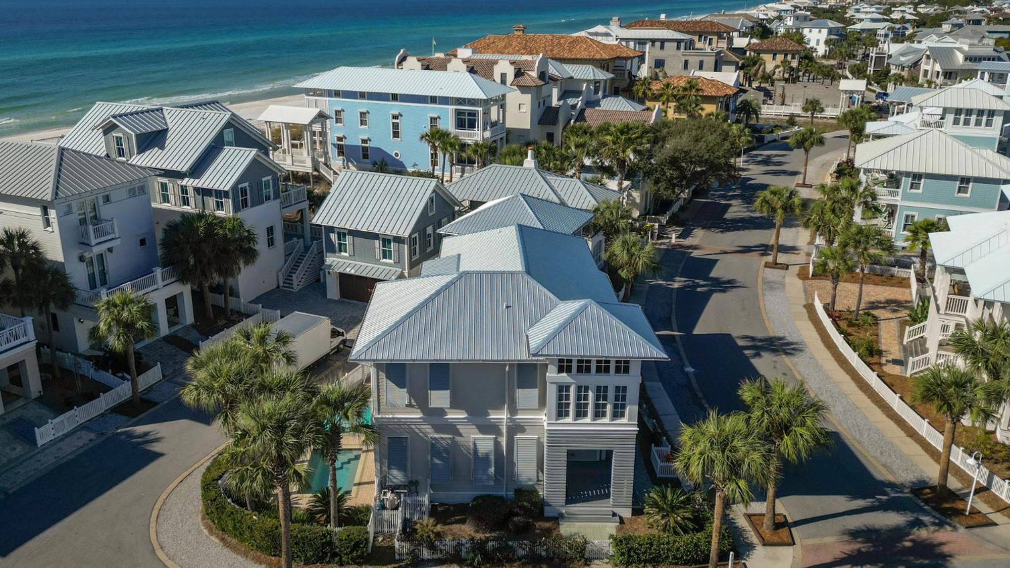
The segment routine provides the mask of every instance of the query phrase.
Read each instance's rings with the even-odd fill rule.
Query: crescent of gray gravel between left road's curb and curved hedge
[[[209,464],[193,470],[165,499],[158,514],[158,542],[182,568],[260,566],[218,544],[200,526],[200,476]]]

